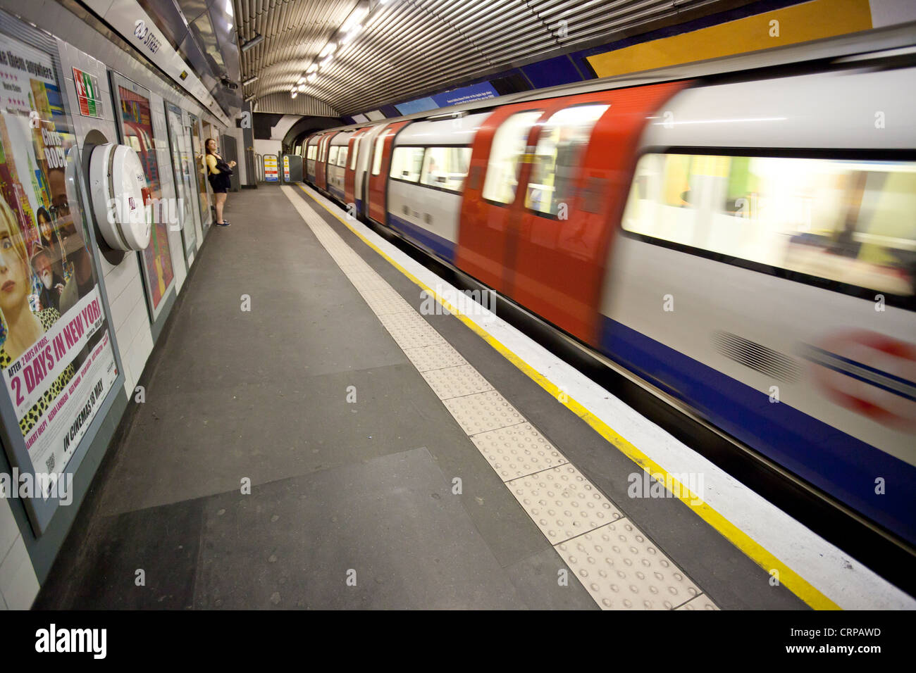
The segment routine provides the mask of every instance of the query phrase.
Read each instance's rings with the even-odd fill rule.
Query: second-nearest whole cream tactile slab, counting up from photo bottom
[[[569,463],[514,479],[506,485],[551,545],[623,516]]]

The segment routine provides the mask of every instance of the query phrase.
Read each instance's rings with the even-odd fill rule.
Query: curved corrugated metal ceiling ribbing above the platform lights
[[[234,0],[245,87],[257,97],[299,81],[356,0]],[[727,0],[373,0],[362,31],[340,47],[305,94],[341,114],[396,103],[454,82],[611,41],[623,31]],[[276,100],[276,99],[274,99]],[[294,101],[290,101],[294,103]]]

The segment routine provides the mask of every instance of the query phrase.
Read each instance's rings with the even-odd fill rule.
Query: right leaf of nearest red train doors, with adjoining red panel
[[[513,204],[509,295],[585,342],[596,342],[611,236],[650,115],[684,82],[594,92],[551,106],[529,136],[533,160]]]

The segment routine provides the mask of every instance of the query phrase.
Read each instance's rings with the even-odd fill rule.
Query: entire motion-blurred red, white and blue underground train
[[[914,543],[916,59],[873,49],[322,131],[307,181]]]

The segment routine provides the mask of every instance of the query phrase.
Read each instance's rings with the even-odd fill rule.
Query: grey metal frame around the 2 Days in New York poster
[[[73,195],[77,201],[82,215],[82,231],[87,234],[86,245],[89,248],[90,257],[93,263],[93,273],[95,274],[96,287],[99,289],[99,297],[102,300],[102,309],[105,317],[105,330],[108,332],[109,345],[114,355],[114,366],[116,374],[111,388],[108,390],[104,399],[99,404],[92,421],[86,428],[76,449],[73,451],[70,461],[64,468],[62,474],[70,474],[73,483],[76,483],[76,472],[82,466],[82,462],[87,452],[93,444],[96,435],[104,423],[108,422],[108,415],[114,405],[117,396],[121,395],[125,385],[124,364],[121,361],[121,352],[117,345],[117,336],[114,330],[114,321],[112,320],[111,307],[108,303],[108,294],[105,290],[103,266],[99,261],[99,247],[95,237],[95,227],[92,223],[91,203],[89,201],[88,183],[83,175],[84,162],[80,147],[82,141],[77,137],[75,125],[73,124],[73,101],[67,92],[66,72],[63,70],[63,64],[60,57],[58,42],[45,31],[39,30],[20,21],[14,16],[10,16],[5,11],[0,10],[0,33],[9,38],[16,39],[27,44],[32,49],[38,49],[46,54],[52,62],[55,79],[60,86],[60,100],[63,103],[64,114],[68,118],[71,136],[73,136],[73,145],[68,153],[68,165],[74,167],[74,190]],[[0,396],[0,443],[3,445],[5,459],[11,468],[16,468],[21,473],[28,472],[35,478],[35,466],[28,455],[26,441],[21,433],[9,432],[9,429],[18,429],[19,422],[16,418],[15,409],[7,403],[7,400]],[[73,486],[75,488],[75,485]],[[71,493],[74,505],[80,494]],[[40,537],[49,527],[53,517],[57,513],[60,503],[54,499],[43,500],[41,498],[16,498],[26,512],[29,526],[31,526],[35,537]],[[12,502],[10,505],[13,505]]]

